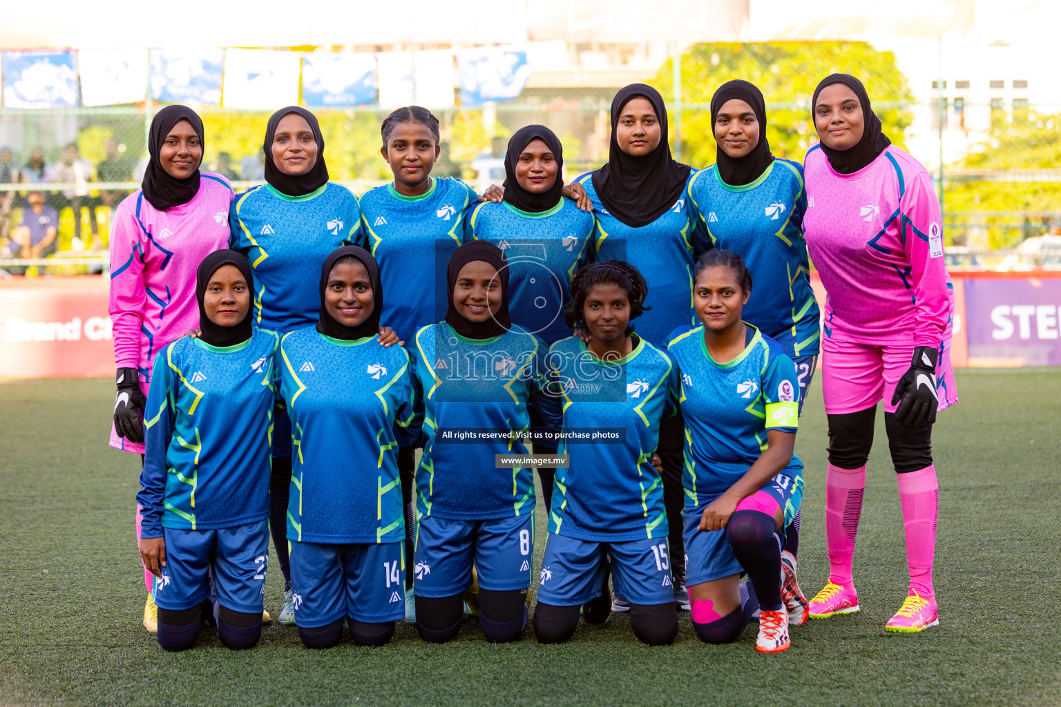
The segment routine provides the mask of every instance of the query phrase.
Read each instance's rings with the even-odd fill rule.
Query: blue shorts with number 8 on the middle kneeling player
[[[526,589],[534,572],[534,513],[497,520],[421,515],[416,526],[416,596],[438,599],[471,584],[490,591]]]

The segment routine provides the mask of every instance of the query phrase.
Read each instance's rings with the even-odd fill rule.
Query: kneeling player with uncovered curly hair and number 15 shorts
[[[578,625],[579,606],[596,602],[607,556],[615,591],[630,602],[630,624],[645,643],[674,642],[678,613],[667,552],[663,485],[651,458],[660,419],[675,414],[677,367],[671,356],[633,334],[648,287],[632,265],[604,261],[582,267],[571,283],[569,328],[585,329],[553,344],[546,356],[558,396],[542,406],[546,423],[577,434],[620,432],[614,442],[560,442],[570,466],[556,473],[535,609],[541,643],[566,641]],[[625,432],[625,436],[622,435]],[[607,598],[607,597],[606,597]],[[587,621],[603,613],[587,607]]]

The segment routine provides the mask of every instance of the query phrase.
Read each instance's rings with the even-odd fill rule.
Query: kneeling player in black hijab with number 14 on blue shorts
[[[280,341],[292,603],[308,648],[338,643],[344,621],[356,644],[382,646],[405,616],[397,455],[419,445],[421,416],[408,354],[377,337],[382,310],[376,260],[346,246],[320,270],[316,326]]]

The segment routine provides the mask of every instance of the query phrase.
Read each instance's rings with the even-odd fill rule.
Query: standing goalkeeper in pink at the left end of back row
[[[110,230],[110,318],[114,320],[115,397],[110,446],[142,457],[143,406],[155,355],[198,325],[195,269],[228,247],[232,188],[201,173],[203,121],[186,106],[167,106],[151,122],[151,161],[141,189],[115,211]],[[137,541],[140,540],[137,508]],[[144,569],[143,625],[157,631],[153,576]]]

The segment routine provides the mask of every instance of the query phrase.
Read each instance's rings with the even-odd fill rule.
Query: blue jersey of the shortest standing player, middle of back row
[[[465,219],[465,242],[488,241],[505,252],[512,322],[554,343],[571,336],[563,311],[571,280],[591,255],[594,223],[571,199],[541,213],[486,201]]]

